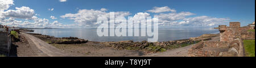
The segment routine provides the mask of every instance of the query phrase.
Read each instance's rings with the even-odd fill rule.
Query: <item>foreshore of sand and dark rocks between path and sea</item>
[[[56,48],[62,50],[68,50],[68,52],[76,52],[82,54],[95,54],[102,53],[94,52],[92,50],[127,50],[131,52],[130,54],[126,54],[123,56],[133,56],[133,52],[137,53],[137,56],[143,56],[146,54],[153,54],[158,52],[166,52],[167,50],[181,48],[184,46],[196,44],[200,41],[211,40],[212,37],[218,36],[218,34],[205,34],[199,37],[191,37],[190,39],[183,40],[175,40],[175,41],[163,41],[163,42],[147,42],[147,41],[107,41],[107,42],[99,42],[99,41],[88,41],[84,39],[79,39],[77,37],[54,37],[47,36],[38,33],[29,33],[39,39],[46,41],[48,44],[55,46]],[[85,51],[86,50],[86,51]],[[111,51],[110,51],[111,52]],[[101,54],[104,56],[104,53]],[[92,55],[94,56],[94,55]],[[98,55],[96,55],[98,56]]]

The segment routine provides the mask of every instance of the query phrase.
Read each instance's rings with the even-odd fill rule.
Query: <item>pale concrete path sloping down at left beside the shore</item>
[[[67,54],[63,50],[57,49],[47,42],[38,39],[35,36],[22,32],[22,35],[26,37],[32,50],[38,54],[39,57],[69,57],[71,54]]]

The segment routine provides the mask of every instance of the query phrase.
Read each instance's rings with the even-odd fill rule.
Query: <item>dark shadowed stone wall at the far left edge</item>
[[[9,32],[0,32],[0,53],[9,55],[11,48],[11,36]]]

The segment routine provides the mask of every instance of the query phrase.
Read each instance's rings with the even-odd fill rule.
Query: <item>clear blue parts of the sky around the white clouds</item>
[[[130,15],[134,16],[138,12],[148,13],[150,16],[169,14],[171,11],[155,13],[148,12],[148,10],[154,9],[154,7],[164,7],[167,6],[172,10],[176,10],[175,13],[180,12],[191,12],[192,15],[187,15],[181,19],[168,20],[167,24],[174,22],[186,22],[186,24],[178,25],[179,27],[187,27],[190,23],[202,22],[203,20],[194,20],[196,17],[204,17],[204,20],[214,19],[212,23],[216,27],[218,24],[215,22],[241,22],[241,25],[247,25],[255,21],[255,1],[254,0],[67,0],[65,2],[60,2],[59,0],[14,0],[14,5],[11,5],[7,10],[16,10],[15,7],[30,7],[35,12],[35,16],[40,19],[48,19],[49,23],[57,21],[63,25],[78,23],[74,19],[77,18],[67,16],[66,18],[61,18],[65,14],[78,14],[79,10],[101,10],[101,8],[106,8],[108,11],[105,12],[118,12],[125,11],[129,12]],[[52,11],[48,9],[54,8]],[[138,14],[139,15],[139,14]],[[57,19],[51,19],[50,16],[55,16]],[[5,19],[12,18],[11,16],[6,16]],[[186,20],[185,20],[186,18]],[[189,19],[191,18],[191,19]],[[194,19],[193,19],[194,18]],[[200,19],[200,18],[198,18]],[[221,21],[220,21],[221,19]],[[228,20],[227,20],[228,19]],[[28,19],[19,19],[24,23]],[[166,19],[164,19],[166,20]],[[79,21],[79,20],[77,20]],[[33,20],[28,20],[32,23]],[[90,21],[92,22],[92,21]],[[79,23],[85,23],[79,22]],[[189,24],[188,24],[189,23]],[[166,23],[164,23],[166,24]],[[210,23],[207,23],[210,24]],[[11,25],[11,24],[10,24]],[[17,24],[19,26],[19,24]],[[89,24],[92,25],[92,24]],[[176,24],[177,25],[177,24]],[[175,25],[175,26],[176,26]],[[172,27],[174,25],[166,25],[165,27]],[[194,25],[192,25],[194,26]],[[201,27],[201,26],[198,26]]]

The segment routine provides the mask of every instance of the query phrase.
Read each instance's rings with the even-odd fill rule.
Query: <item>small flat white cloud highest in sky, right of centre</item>
[[[154,13],[160,13],[160,12],[176,12],[176,10],[171,9],[168,6],[164,7],[154,7],[152,10],[147,10],[147,12],[154,12]]]

